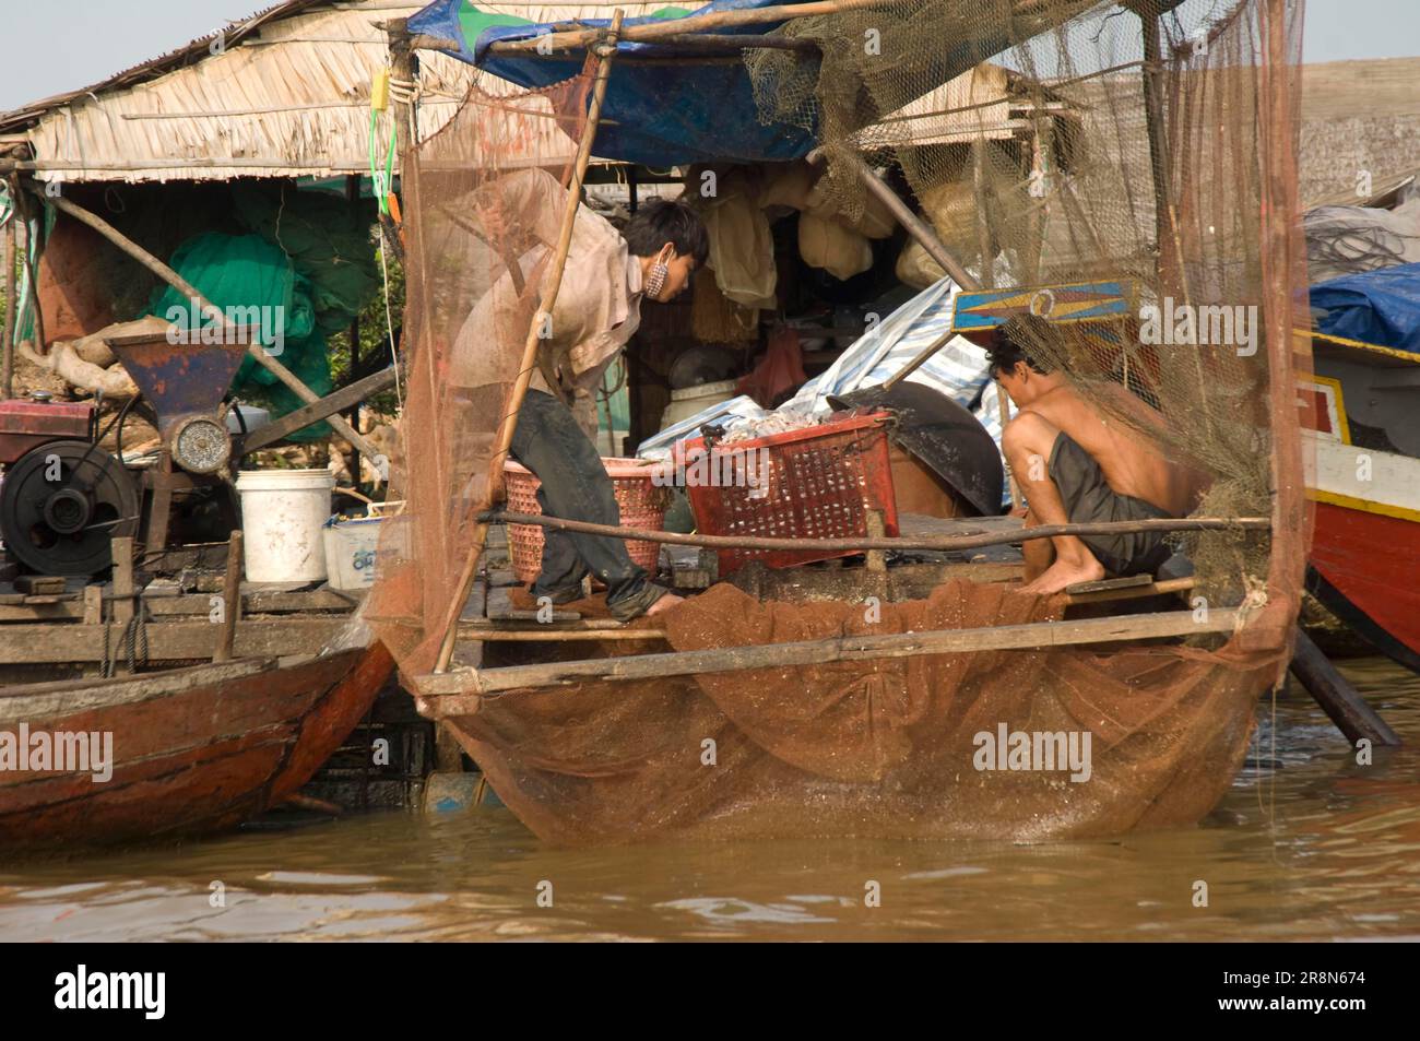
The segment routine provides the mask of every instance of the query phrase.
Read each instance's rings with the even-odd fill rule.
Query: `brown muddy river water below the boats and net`
[[[0,863],[0,940],[1420,939],[1420,679],[1343,670],[1409,746],[1358,765],[1309,699],[1267,699],[1194,828],[567,851],[506,810],[383,814]]]

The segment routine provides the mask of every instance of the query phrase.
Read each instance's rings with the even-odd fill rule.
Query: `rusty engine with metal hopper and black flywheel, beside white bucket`
[[[138,537],[146,569],[190,540],[220,541],[236,525],[222,400],[244,344],[172,344],[166,335],[108,341],[156,418],[156,460],[125,464],[99,447],[92,402],[36,393],[0,402],[0,541],[41,575],[92,577],[112,564],[111,540]],[[125,410],[126,413],[126,410]],[[115,420],[122,435],[119,413]]]

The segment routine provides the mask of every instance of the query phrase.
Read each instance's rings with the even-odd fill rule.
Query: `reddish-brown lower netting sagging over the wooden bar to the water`
[[[889,632],[961,618],[1020,625],[1051,611],[1007,585],[961,579],[879,609],[873,625]],[[865,625],[846,599],[760,602],[728,584],[659,621],[674,650]],[[483,665],[636,653],[626,643],[491,642]],[[1044,646],[581,679],[498,692],[470,714],[419,704],[500,800],[558,845],[663,835],[1034,842],[1197,822],[1233,783],[1257,699],[1284,662],[1281,648],[1241,641],[1214,652]],[[1088,734],[1088,765],[983,758],[1022,734],[1074,734],[1082,746]]]

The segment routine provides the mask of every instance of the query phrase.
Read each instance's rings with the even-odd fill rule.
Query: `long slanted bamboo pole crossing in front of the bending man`
[[[577,224],[577,210],[582,203],[582,180],[586,176],[586,165],[592,158],[592,142],[596,139],[596,124],[602,115],[602,99],[606,97],[606,78],[611,74],[612,57],[616,54],[616,40],[621,33],[622,10],[618,7],[612,14],[609,30],[596,30],[596,36],[605,34],[605,43],[596,48],[596,81],[592,85],[592,101],[586,109],[586,124],[582,129],[582,139],[577,143],[577,159],[572,165],[572,180],[567,189],[567,209],[562,212],[562,230],[558,236],[557,250],[552,257],[552,268],[544,277],[542,298],[538,311],[528,325],[527,339],[523,342],[523,362],[518,366],[518,379],[508,395],[508,403],[503,410],[503,422],[498,425],[498,440],[488,463],[488,503],[501,503],[504,498],[503,463],[508,457],[508,447],[513,445],[513,432],[518,423],[518,409],[527,396],[528,383],[532,381],[532,369],[537,365],[537,352],[541,345],[542,315],[550,315],[557,304],[557,294],[562,288],[562,273],[567,270],[567,254],[572,246],[572,230]],[[463,611],[463,602],[469,598],[473,579],[479,572],[479,561],[488,538],[488,523],[480,521],[473,533],[473,545],[463,562],[459,574],[457,592],[444,612],[442,625],[442,642],[435,672],[444,672],[453,659],[453,648],[459,639],[457,621]]]

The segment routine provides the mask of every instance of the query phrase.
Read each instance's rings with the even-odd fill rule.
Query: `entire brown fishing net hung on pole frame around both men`
[[[1027,290],[1028,310],[1049,320],[1032,352],[1112,422],[1203,470],[1211,491],[1200,508],[1274,520],[1271,533],[1189,545],[1198,616],[1245,604],[1248,623],[1196,646],[1069,646],[1066,633],[1062,646],[551,689],[504,673],[511,686],[477,704],[427,696],[426,709],[467,706],[439,714],[538,835],[1095,835],[1196,821],[1221,797],[1255,699],[1285,669],[1306,552],[1294,393],[1306,342],[1292,335],[1305,298],[1301,3],[1130,7],[888,3],[775,30],[816,41],[822,60],[757,48],[746,62],[760,116],[818,135],[824,192],[841,213],[865,207],[859,156],[900,166],[924,205],[956,200],[927,205],[927,216],[951,224],[943,240],[984,285]],[[405,165],[408,378],[392,497],[408,507],[386,521],[368,614],[416,686],[464,609],[459,571],[488,503],[494,435],[555,240],[548,226],[561,220],[542,190],[551,178],[532,190],[527,175],[561,170],[568,183],[589,82],[584,70],[541,92],[476,87]],[[964,186],[974,206],[958,205]],[[1072,322],[1099,300],[1061,287],[1085,281],[1118,283],[1127,310]],[[1145,329],[1149,305],[1172,321],[1159,342]],[[1184,342],[1179,315],[1221,328],[1224,312],[1190,310],[1204,307],[1245,324]],[[527,663],[1062,618],[1058,602],[1001,584],[950,581],[872,615],[862,599],[761,602],[721,584],[639,619],[659,631],[649,639],[490,642],[480,667],[487,677]],[[976,761],[983,734],[1000,733],[1004,754],[1017,731],[1092,734],[1091,777]]]

